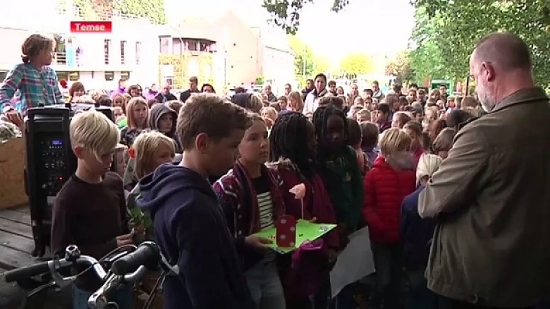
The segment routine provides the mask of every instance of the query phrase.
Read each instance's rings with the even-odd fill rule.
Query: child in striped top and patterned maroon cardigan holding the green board
[[[251,115],[253,124],[246,130],[239,145],[241,157],[213,189],[225,214],[228,227],[236,238],[248,287],[257,309],[285,308],[285,295],[276,266],[276,252],[267,238],[254,236],[274,227],[276,219],[285,214],[285,204],[279,192],[281,179],[265,166],[270,144],[267,126],[258,114]]]

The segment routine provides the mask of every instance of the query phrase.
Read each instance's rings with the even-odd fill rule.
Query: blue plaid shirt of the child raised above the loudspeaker
[[[23,114],[27,113],[27,108],[39,104],[62,104],[63,95],[58,84],[57,74],[52,68],[43,67],[39,70],[30,63],[21,63],[8,73],[0,87],[0,107],[3,110],[7,106],[13,106],[10,99],[16,91],[19,91],[21,99],[17,110]]]

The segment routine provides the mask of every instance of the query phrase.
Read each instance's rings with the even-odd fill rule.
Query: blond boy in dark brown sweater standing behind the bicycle
[[[78,166],[56,196],[52,252],[63,256],[65,247],[76,244],[83,254],[100,259],[116,247],[132,242],[126,224],[122,179],[109,171],[120,133],[107,116],[92,110],[74,116],[70,139]],[[100,285],[91,271],[80,276],[73,287],[73,308],[87,309],[87,299]],[[119,308],[131,308],[129,288],[121,288],[113,301]]]

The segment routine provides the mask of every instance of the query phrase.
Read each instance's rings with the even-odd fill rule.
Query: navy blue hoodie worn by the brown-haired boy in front
[[[166,277],[164,308],[252,309],[234,240],[210,183],[176,164],[140,181],[137,206],[155,225],[162,252],[179,266]]]

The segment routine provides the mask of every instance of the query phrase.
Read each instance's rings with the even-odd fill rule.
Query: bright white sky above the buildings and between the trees
[[[407,47],[415,25],[409,0],[350,0],[344,10],[331,12],[333,0],[305,5],[298,36],[316,54],[338,60],[352,52],[392,55]],[[192,12],[239,8],[239,16],[252,26],[267,27],[262,0],[165,0],[168,18]],[[178,16],[180,15],[180,16]]]

